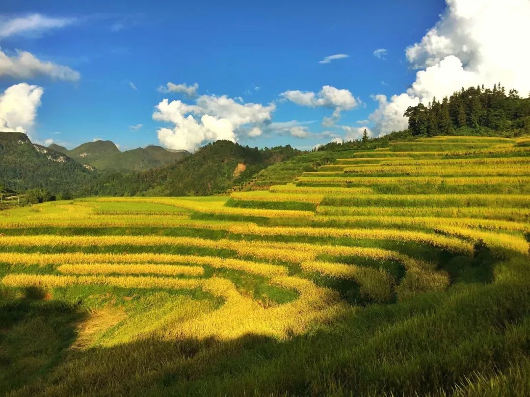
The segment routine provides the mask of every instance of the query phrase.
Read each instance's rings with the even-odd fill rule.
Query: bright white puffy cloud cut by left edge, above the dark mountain
[[[26,132],[34,124],[44,89],[20,83],[0,94],[0,131]]]

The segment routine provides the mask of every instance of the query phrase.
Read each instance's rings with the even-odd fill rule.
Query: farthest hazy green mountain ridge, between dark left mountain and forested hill
[[[185,150],[164,149],[160,146],[148,146],[120,151],[112,141],[83,143],[72,150],[52,143],[49,146],[81,164],[89,164],[98,170],[142,171],[174,163],[189,155]]]

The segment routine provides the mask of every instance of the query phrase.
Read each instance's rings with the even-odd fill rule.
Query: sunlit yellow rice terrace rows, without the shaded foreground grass
[[[516,146],[527,141],[391,143],[342,152],[352,157],[268,191],[89,197],[0,212],[2,284],[50,296],[77,285],[88,296],[95,286],[140,297],[193,290],[189,304],[201,296],[204,312],[175,315],[160,337],[288,339],[360,310],[348,294],[389,304],[451,288],[448,261],[473,261],[484,245],[496,258],[528,255],[530,147]],[[442,185],[463,193],[429,194]],[[109,340],[121,340],[131,321]]]

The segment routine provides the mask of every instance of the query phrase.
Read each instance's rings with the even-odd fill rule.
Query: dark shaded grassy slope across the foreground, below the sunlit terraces
[[[24,298],[1,313],[0,386],[10,395],[439,395],[467,380],[493,388],[500,375],[502,391],[524,395],[529,384],[524,281],[348,310],[285,341],[153,334],[80,350],[70,348],[83,320],[72,306]]]

